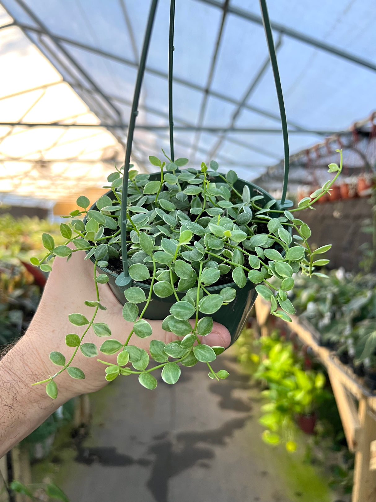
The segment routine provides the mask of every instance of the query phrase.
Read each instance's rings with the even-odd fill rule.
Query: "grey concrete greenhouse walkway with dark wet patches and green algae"
[[[321,479],[308,491],[293,474],[286,481],[289,456],[260,439],[259,392],[231,354],[215,361],[221,367],[230,371],[226,381],[210,380],[199,363],[182,367],[174,386],[159,379],[148,391],[119,377],[100,400],[93,396],[90,436],[60,483],[71,502],[331,500]]]

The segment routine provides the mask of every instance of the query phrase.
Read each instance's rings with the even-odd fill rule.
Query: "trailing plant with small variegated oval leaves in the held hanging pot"
[[[96,210],[89,208],[87,197],[80,196],[77,204],[82,209],[72,211],[67,216],[70,220],[60,226],[65,242],[56,245],[54,238],[44,233],[42,241],[47,253],[42,260],[34,257],[31,262],[43,271],[50,271],[54,257],[69,260],[72,253],[84,249],[85,259],[94,261],[96,298],[85,301],[85,305],[93,308],[93,315],[90,319],[80,313],[69,315],[71,324],[84,326],[85,330],[81,336],[67,335],[67,357],[51,352],[50,359],[60,368],[38,384],[47,384],[47,394],[56,398],[55,380],[62,371],[67,370],[72,378],[85,378],[83,371],[72,366],[72,362],[78,350],[87,357],[97,355],[96,345],[84,342],[90,328],[99,337],[108,337],[99,347],[102,354],[118,354],[117,364],[100,359],[107,366],[107,381],[120,374],[136,374],[141,385],[154,389],[157,380],[153,371],[161,369],[162,380],[175,384],[180,376],[179,365],[193,366],[198,361],[208,365],[211,379],[227,378],[226,370],[216,372],[210,364],[224,348],[211,347],[199,336],[205,340],[213,327],[211,315],[235,299],[237,291],[226,286],[229,283],[235,283],[238,288],[244,288],[249,282],[255,284],[257,293],[271,302],[271,313],[291,320],[289,314],[295,310],[287,296],[294,286],[293,274],[300,269],[310,277],[320,276],[317,268],[328,262],[321,260],[320,254],[330,248],[328,244],[311,250],[307,242],[311,231],[295,217],[295,212],[313,209],[312,205],[330,192],[342,169],[342,154],[338,152],[340,166],[329,165],[334,178],[290,211],[278,209],[274,199],[260,206],[263,195],[251,196],[247,185],[239,193],[234,186],[237,174],[228,171],[222,175],[216,161],[211,161],[209,166],[203,162],[200,169],[181,169],[188,163],[187,159],[170,162],[166,156],[169,161],[166,164],[149,157],[150,163],[160,170],[160,178],[153,180],[149,174],[129,171],[126,212],[129,275],[133,281],[149,284],[150,288],[147,297],[144,289],[137,286],[124,291],[123,317],[133,323],[124,344],[111,338],[107,324],[95,322],[98,309],[106,308],[101,304],[98,283],[109,280],[105,273],[98,272],[114,261],[121,264],[122,169],[108,176],[111,197],[103,195],[96,202]],[[81,219],[83,216],[85,222]],[[75,248],[71,249],[69,243]],[[118,279],[120,286],[122,274]],[[207,288],[218,281],[225,286],[219,294],[208,292]],[[178,292],[185,295],[179,299]],[[162,329],[174,333],[178,340],[166,345],[152,340],[150,355],[157,364],[148,367],[147,352],[128,343],[133,333],[140,338],[152,333],[144,318],[152,293],[159,298],[175,297]],[[138,304],[145,306],[139,309]],[[199,314],[204,317],[200,319]],[[189,319],[194,319],[193,327]]]

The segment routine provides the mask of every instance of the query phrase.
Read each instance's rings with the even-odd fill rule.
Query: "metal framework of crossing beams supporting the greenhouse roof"
[[[265,64],[261,66],[259,74],[253,76],[252,80],[248,83],[247,88],[243,94],[243,97],[239,100],[235,99],[230,93],[221,92],[215,86],[213,86],[213,75],[216,71],[216,66],[218,63],[218,55],[223,41],[223,31],[226,24],[226,20],[229,15],[241,18],[249,22],[250,27],[252,25],[262,25],[261,16],[257,16],[251,12],[244,9],[236,7],[230,0],[225,0],[220,2],[219,0],[188,0],[193,3],[204,4],[211,6],[215,9],[221,10],[221,23],[218,30],[217,39],[215,42],[212,60],[209,65],[209,72],[206,81],[206,85],[198,84],[197,82],[182,78],[181,76],[173,75],[173,82],[180,84],[187,89],[198,91],[202,95],[201,107],[198,113],[198,119],[195,122],[192,120],[182,119],[178,115],[175,116],[174,131],[179,133],[195,133],[193,142],[186,142],[181,139],[181,135],[175,139],[176,145],[181,145],[181,147],[190,149],[190,151],[195,155],[195,152],[200,152],[201,155],[207,160],[214,155],[216,158],[224,162],[226,165],[237,165],[237,162],[232,160],[229,155],[223,153],[221,148],[224,143],[232,145],[234,148],[240,147],[249,152],[259,153],[264,156],[264,162],[241,162],[244,167],[251,168],[252,166],[267,167],[273,164],[276,159],[280,158],[279,153],[273,152],[272,149],[265,148],[262,145],[255,145],[249,139],[245,139],[244,135],[279,135],[281,134],[280,128],[273,127],[243,127],[238,126],[237,121],[239,116],[242,114],[243,110],[252,112],[259,116],[261,119],[280,121],[280,116],[278,113],[271,111],[270,109],[263,108],[258,104],[250,103],[249,97],[257,87],[262,76],[268,69],[269,63],[265,61]],[[0,29],[6,29],[11,26],[19,27],[26,36],[38,46],[38,48],[43,52],[43,54],[51,61],[51,63],[59,70],[64,76],[64,79],[72,86],[72,88],[82,97],[82,99],[88,104],[90,109],[99,117],[101,123],[98,126],[90,125],[89,127],[104,127],[110,131],[116,139],[124,144],[126,140],[126,129],[128,123],[124,120],[124,116],[121,110],[122,106],[130,106],[130,100],[124,96],[116,96],[110,94],[105,88],[103,88],[96,79],[88,73],[87,69],[83,67],[81,62],[74,56],[70,48],[77,49],[80,51],[85,51],[101,58],[105,58],[108,61],[114,63],[119,63],[127,68],[138,69],[137,59],[139,57],[139,50],[135,41],[134,29],[132,29],[131,19],[127,10],[126,0],[119,0],[119,4],[122,9],[124,16],[124,27],[128,31],[129,38],[131,40],[133,60],[126,57],[119,56],[118,54],[111,53],[103,48],[95,47],[93,45],[83,43],[82,41],[75,40],[74,38],[64,37],[54,33],[54,31],[49,28],[46,23],[42,22],[39,15],[37,14],[37,9],[33,7],[32,4],[27,3],[25,0],[3,0],[1,4],[9,12],[10,16],[14,19],[12,23],[3,25]],[[12,6],[17,6],[17,11],[12,9]],[[21,16],[21,12],[24,12],[26,16]],[[25,19],[28,17],[30,20],[26,22]],[[358,67],[366,68],[369,71],[376,71],[376,64],[367,59],[360,58],[355,54],[344,51],[334,45],[325,43],[314,37],[310,37],[301,33],[297,30],[293,30],[282,24],[276,22],[271,22],[271,26],[275,32],[280,36],[279,44],[282,45],[285,38],[289,38],[295,41],[299,41],[310,47],[323,51],[327,54],[334,55],[341,58],[344,61],[348,61],[358,65]],[[166,27],[167,29],[167,27]],[[163,80],[167,80],[168,73],[161,71],[152,65],[146,64],[145,68],[146,74],[159,77]],[[210,127],[205,123],[205,114],[207,108],[208,99],[216,98],[229,106],[234,107],[234,111],[231,115],[230,121],[227,126],[223,127]],[[160,119],[166,119],[168,115],[162,109],[150,106],[141,102],[139,108],[143,110],[146,114],[152,114]],[[0,117],[1,120],[1,117]],[[0,126],[5,125],[7,122],[1,122]],[[316,138],[316,141],[321,140],[323,137],[331,134],[348,134],[347,131],[333,131],[319,128],[309,128],[304,127],[301,123],[296,120],[288,120],[289,124],[289,134],[290,135],[309,135],[312,138]],[[24,123],[24,127],[35,127],[37,124]],[[48,124],[49,127],[57,127],[60,124],[53,123]],[[85,124],[86,125],[86,124]],[[67,127],[63,124],[62,127]],[[80,127],[80,124],[75,124],[73,127]],[[145,132],[153,132],[155,138],[160,141],[165,141],[166,132],[168,131],[168,126],[153,125],[148,123],[137,123],[137,130],[143,130]],[[203,147],[200,145],[200,135],[202,133],[208,133],[215,136],[215,142],[213,145],[208,147]],[[136,151],[139,153],[137,156],[137,161],[139,164],[146,167],[147,157],[142,154],[144,149],[145,141],[139,138],[135,141]],[[140,153],[141,152],[141,153]],[[133,156],[137,155],[135,152]],[[252,176],[251,176],[252,177]]]

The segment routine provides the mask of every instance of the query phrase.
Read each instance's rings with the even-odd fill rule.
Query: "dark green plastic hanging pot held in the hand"
[[[160,173],[153,173],[150,175],[150,181],[154,180],[159,180],[160,179]],[[262,188],[259,188],[258,186],[249,183],[248,181],[238,179],[236,183],[234,184],[234,187],[238,192],[243,191],[243,187],[247,185],[250,189],[251,192],[251,197],[254,197],[255,195],[263,195],[264,200],[261,201],[260,199],[260,204],[265,205],[269,200],[272,200],[273,197],[265,192]],[[114,194],[112,191],[107,192],[107,194],[111,199],[114,198]],[[93,204],[90,208],[91,210],[96,210],[96,204]],[[86,218],[85,218],[86,219]],[[84,220],[85,221],[85,220]],[[91,261],[94,263],[95,259],[93,257],[90,258]],[[119,302],[124,305],[126,302],[125,296],[124,296],[124,290],[125,288],[122,286],[118,286],[115,281],[116,278],[118,277],[118,274],[115,272],[111,272],[107,268],[101,268],[97,267],[97,270],[100,270],[103,274],[106,274],[109,278],[108,284],[113,292],[113,294],[116,296],[116,298],[119,300]],[[137,286],[145,291],[145,296],[147,297],[150,291],[150,286],[148,284],[144,284],[142,282],[137,282],[137,281],[132,281],[130,286]],[[219,286],[210,286],[206,288],[210,293],[219,293],[221,289],[231,287],[236,289],[237,294],[235,300],[230,302],[228,305],[223,305],[217,312],[211,315],[214,321],[219,322],[220,324],[223,324],[226,326],[226,328],[229,330],[231,334],[231,344],[233,344],[240,336],[247,319],[249,317],[249,314],[252,310],[252,307],[255,303],[256,297],[257,297],[257,292],[255,290],[255,284],[253,284],[248,278],[247,278],[247,284],[245,285],[244,288],[239,288],[234,282],[230,282],[227,284],[221,284]],[[181,299],[183,296],[185,296],[184,291],[178,292],[177,296],[179,299]],[[145,319],[152,319],[152,320],[162,320],[166,316],[170,314],[169,310],[171,306],[176,302],[176,299],[174,295],[171,295],[167,298],[159,298],[156,296],[154,293],[151,294],[151,299],[152,301],[149,303],[145,313],[144,313],[144,318]],[[138,309],[139,312],[142,311],[144,308],[145,303],[139,303],[138,304]],[[204,314],[199,314],[199,317],[203,317]]]

